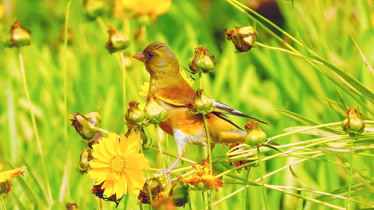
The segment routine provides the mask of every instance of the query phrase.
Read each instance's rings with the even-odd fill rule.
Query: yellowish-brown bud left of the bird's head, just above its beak
[[[127,48],[130,44],[129,37],[118,31],[114,26],[110,25],[108,30],[108,41],[106,42],[105,48],[110,52],[114,53]]]

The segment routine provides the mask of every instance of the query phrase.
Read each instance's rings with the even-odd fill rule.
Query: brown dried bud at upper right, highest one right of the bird
[[[257,32],[252,26],[235,27],[234,29],[225,29],[227,39],[234,43],[239,52],[248,52],[255,46]]]

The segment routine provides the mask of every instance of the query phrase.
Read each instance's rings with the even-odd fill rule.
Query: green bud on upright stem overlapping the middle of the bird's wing
[[[203,89],[196,91],[195,99],[191,105],[191,111],[195,114],[207,115],[214,110],[213,100],[204,94]]]

